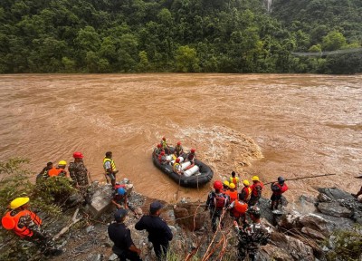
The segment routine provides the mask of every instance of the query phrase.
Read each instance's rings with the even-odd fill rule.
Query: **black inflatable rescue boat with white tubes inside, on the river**
[[[171,150],[172,149],[173,148],[171,148]],[[191,162],[184,161],[184,159],[187,159],[187,153],[184,153],[182,156],[178,157],[180,159],[181,169],[183,170],[182,175],[177,174],[173,170],[173,163],[176,160],[173,154],[165,156],[169,162],[166,164],[161,164],[158,160],[157,153],[154,151],[152,153],[153,163],[158,169],[161,169],[165,174],[167,174],[168,177],[174,179],[176,183],[179,183],[182,187],[198,188],[213,179],[213,169],[200,160],[195,160],[195,165],[190,168]]]

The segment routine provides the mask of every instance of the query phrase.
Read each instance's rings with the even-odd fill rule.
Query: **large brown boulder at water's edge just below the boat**
[[[191,231],[204,227],[208,212],[196,203],[178,203],[174,209],[176,223]]]

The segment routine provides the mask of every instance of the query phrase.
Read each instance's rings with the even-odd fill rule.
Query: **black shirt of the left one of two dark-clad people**
[[[126,250],[130,246],[134,245],[132,238],[130,237],[130,230],[123,223],[112,223],[108,227],[108,235],[110,240],[113,241],[116,247]]]

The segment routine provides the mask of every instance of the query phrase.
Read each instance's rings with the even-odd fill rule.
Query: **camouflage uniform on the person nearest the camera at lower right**
[[[268,244],[271,237],[269,232],[260,223],[245,224],[237,228],[238,233],[238,261],[242,261],[246,256],[254,261],[258,256],[259,247]]]

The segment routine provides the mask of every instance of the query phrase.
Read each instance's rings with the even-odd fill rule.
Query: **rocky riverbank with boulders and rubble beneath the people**
[[[131,184],[128,188],[132,190],[129,202],[134,211],[129,211],[126,225],[131,230],[134,243],[142,249],[143,260],[156,260],[147,232],[134,229],[138,218],[142,213],[148,213],[149,203],[154,199],[137,193],[137,188]],[[81,221],[61,237],[59,243],[64,252],[62,256],[52,257],[52,260],[117,259],[112,255],[113,244],[107,233],[115,210],[110,204],[110,193],[110,185],[93,184],[90,202],[78,214]],[[176,205],[163,202],[166,207],[162,218],[167,220],[174,233],[168,260],[186,260],[186,256],[195,256],[198,258],[195,260],[220,260],[221,257],[223,260],[236,260],[237,239],[229,214],[224,214],[224,229],[214,234],[204,202],[182,201]],[[357,224],[362,225],[362,203],[347,192],[336,188],[319,189],[317,198],[301,196],[298,203],[288,205],[286,200],[284,202],[286,206],[282,211],[271,212],[269,200],[261,199],[262,222],[271,231],[271,242],[262,247],[258,260],[346,260],[335,254],[340,244],[338,230],[350,231],[351,235],[356,233],[357,236],[349,239],[345,237],[346,246],[349,243],[355,246],[358,240],[362,244],[362,229],[356,227]],[[349,250],[355,251],[357,258],[362,258],[361,247]],[[207,259],[206,256],[210,257]]]

